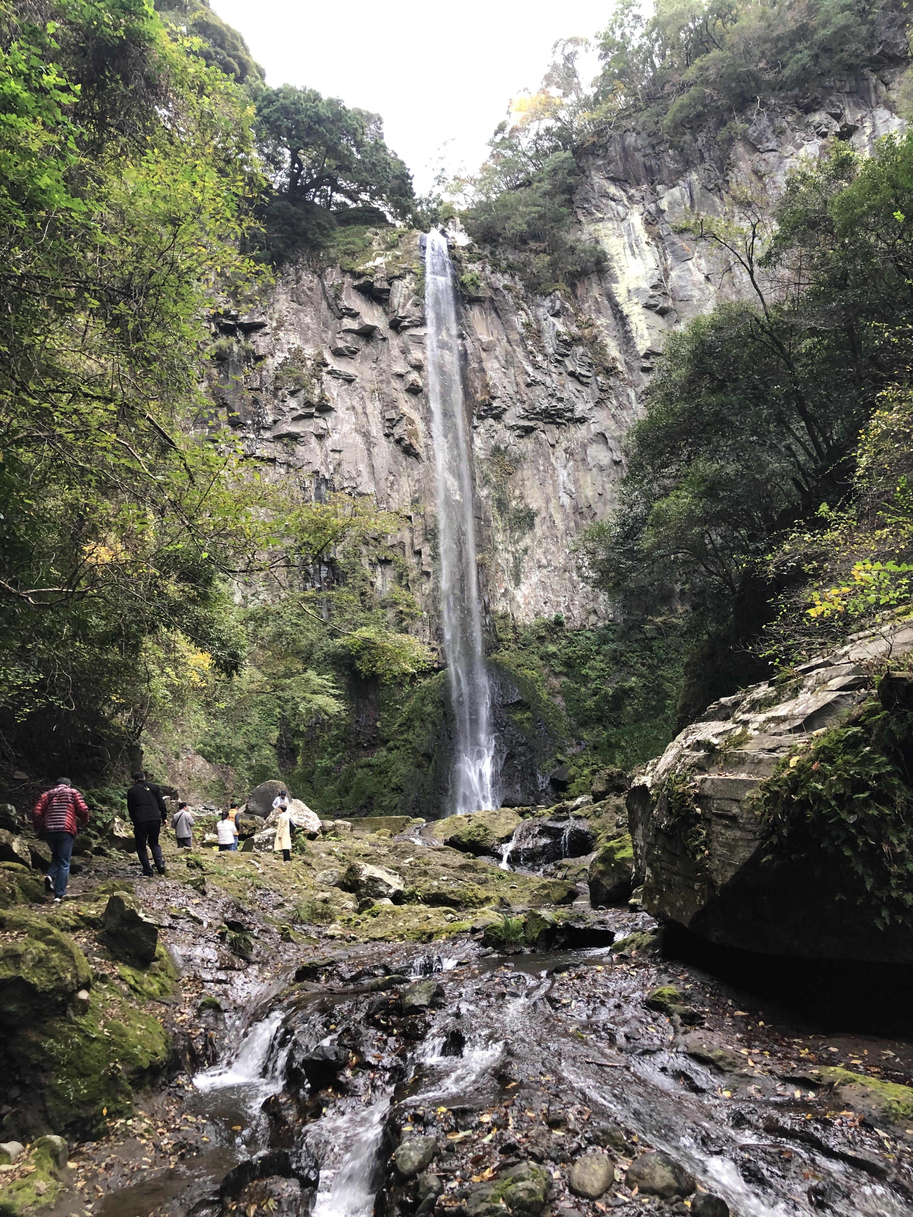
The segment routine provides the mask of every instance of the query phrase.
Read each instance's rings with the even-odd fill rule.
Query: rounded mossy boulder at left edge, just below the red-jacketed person
[[[6,1026],[58,1014],[91,983],[91,969],[77,943],[44,918],[0,913],[0,1019]]]

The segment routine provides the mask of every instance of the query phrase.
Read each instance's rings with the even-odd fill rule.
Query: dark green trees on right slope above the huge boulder
[[[752,298],[671,336],[627,438],[620,509],[581,545],[626,622],[679,618],[683,711],[764,674],[747,652],[767,623],[766,649],[789,654],[833,636],[842,585],[859,589],[857,621],[907,596],[908,212],[913,140],[891,136],[868,162],[838,145],[799,170],[773,221],[745,195],[685,225]]]

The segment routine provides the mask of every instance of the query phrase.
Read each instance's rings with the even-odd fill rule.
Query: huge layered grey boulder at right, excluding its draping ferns
[[[875,663],[913,649],[886,623],[710,706],[627,796],[643,905],[722,947],[795,958],[913,963],[913,935],[876,924],[861,880],[836,853],[769,859],[756,791],[812,733],[839,727],[874,695]],[[900,682],[889,685],[896,701]]]

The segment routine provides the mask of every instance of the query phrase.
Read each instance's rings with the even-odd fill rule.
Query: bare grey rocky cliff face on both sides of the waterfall
[[[870,151],[903,125],[894,77],[743,116],[724,157],[688,157],[622,133],[590,157],[577,209],[606,252],[603,273],[564,293],[521,280],[463,248],[463,346],[472,411],[480,563],[486,607],[520,621],[605,615],[573,545],[616,500],[624,432],[639,413],[666,336],[721,298],[747,293],[738,269],[677,231],[688,209],[718,213],[734,185],[772,198],[829,136]],[[813,108],[808,108],[810,105]],[[465,239],[464,239],[465,240]],[[299,470],[317,492],[376,495],[403,512],[396,549],[436,627],[433,454],[425,394],[419,234],[381,234],[354,271],[298,267],[262,313],[215,319],[214,396],[247,450]],[[392,565],[375,571],[382,594]]]

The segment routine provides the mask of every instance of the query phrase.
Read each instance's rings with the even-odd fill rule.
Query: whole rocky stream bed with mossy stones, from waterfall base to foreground
[[[460,848],[326,825],[289,864],[169,846],[151,881],[108,854],[56,914],[0,913],[5,937],[41,918],[82,950],[54,1042],[113,1044],[121,1079],[114,1101],[65,1069],[67,1099],[50,1037],[41,1060],[13,1032],[2,1127],[32,1139],[0,1212],[913,1212],[913,1045],[663,950],[637,901],[592,909],[622,807],[446,821]],[[499,865],[511,839],[550,874]],[[572,840],[589,856],[562,858]],[[130,1062],[117,1028],[150,1016],[167,1047]]]

